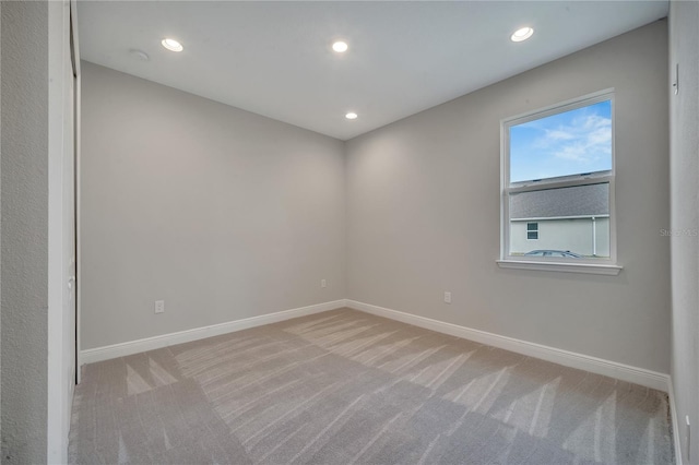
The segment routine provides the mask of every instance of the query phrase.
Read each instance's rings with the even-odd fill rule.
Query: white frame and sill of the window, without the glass
[[[612,104],[612,169],[584,175],[564,176],[533,181],[510,183],[510,128],[553,115],[574,110],[600,102]],[[615,202],[615,98],[614,88],[596,92],[556,105],[528,111],[500,121],[500,267],[538,270],[552,272],[573,272],[590,274],[617,275],[621,266],[616,254],[616,202]],[[524,257],[510,254],[510,194],[518,192],[540,191],[544,189],[567,188],[596,183],[609,184],[609,258],[608,259],[566,259],[555,257]]]

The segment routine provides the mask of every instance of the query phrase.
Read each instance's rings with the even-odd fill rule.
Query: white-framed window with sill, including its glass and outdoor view
[[[501,134],[500,266],[618,274],[613,91],[506,119]]]

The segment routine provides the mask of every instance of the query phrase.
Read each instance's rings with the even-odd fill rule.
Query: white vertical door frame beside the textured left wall
[[[71,24],[71,17],[73,17]],[[76,257],[67,258],[64,246],[67,220],[71,214],[76,215],[75,204],[67,206],[64,193],[73,190],[78,198],[75,181],[70,183],[64,178],[67,157],[72,157],[73,178],[76,172],[79,134],[80,134],[80,53],[75,26],[74,0],[48,2],[48,380],[47,380],[47,418],[46,418],[46,461],[52,463],[68,462],[68,434],[70,432],[71,407],[75,386],[76,343],[75,325],[78,319]],[[71,35],[74,47],[71,49]],[[71,51],[72,50],[72,51]],[[73,55],[71,55],[73,53]],[[73,64],[74,63],[74,64]],[[67,68],[70,67],[70,68]],[[67,78],[70,73],[71,79]],[[70,96],[73,88],[73,98]],[[71,111],[72,107],[72,111]],[[68,121],[71,114],[73,120]],[[72,124],[70,124],[72,122]],[[69,131],[70,126],[73,129]],[[66,150],[67,138],[72,139],[72,151]],[[75,225],[73,225],[75,226]],[[74,235],[78,234],[75,229]],[[75,255],[78,249],[75,249]],[[74,260],[75,269],[70,262]],[[68,276],[71,275],[71,276]],[[70,287],[69,287],[70,286]],[[71,289],[72,288],[72,289]],[[64,305],[67,291],[74,293],[75,309]],[[75,312],[75,313],[73,313]]]

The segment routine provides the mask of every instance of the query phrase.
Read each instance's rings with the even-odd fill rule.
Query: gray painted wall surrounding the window
[[[500,120],[608,87],[624,271],[499,269]],[[667,114],[662,21],[347,142],[347,297],[667,373]]]

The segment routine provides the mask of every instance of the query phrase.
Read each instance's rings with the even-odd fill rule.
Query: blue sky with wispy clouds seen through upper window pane
[[[510,182],[612,169],[612,102],[510,127]]]

